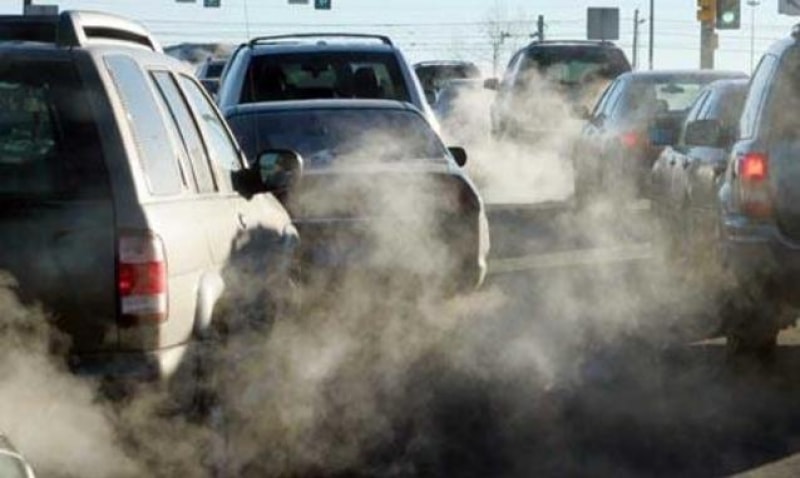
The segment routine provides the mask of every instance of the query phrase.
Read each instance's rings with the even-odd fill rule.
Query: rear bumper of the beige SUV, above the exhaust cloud
[[[178,370],[188,347],[182,344],[143,352],[74,354],[69,358],[69,366],[77,375],[112,382],[158,382]]]

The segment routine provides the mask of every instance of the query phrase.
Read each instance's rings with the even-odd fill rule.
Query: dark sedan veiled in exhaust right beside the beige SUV
[[[245,151],[288,148],[305,158],[303,179],[286,203],[303,237],[306,269],[405,270],[454,292],[483,281],[488,224],[460,168],[466,153],[445,148],[412,105],[248,103],[225,115]]]

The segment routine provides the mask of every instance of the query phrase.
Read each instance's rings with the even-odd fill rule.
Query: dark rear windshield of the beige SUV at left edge
[[[0,196],[107,193],[88,105],[71,63],[0,60]]]

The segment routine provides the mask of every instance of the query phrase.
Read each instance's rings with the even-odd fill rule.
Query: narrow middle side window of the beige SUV
[[[180,140],[183,142],[192,164],[197,190],[200,192],[215,191],[214,177],[211,174],[211,166],[208,164],[208,155],[203,147],[203,141],[200,139],[200,132],[192,119],[186,101],[178,90],[175,79],[165,71],[154,72],[152,76],[164,100],[169,105],[173,120],[178,125]]]

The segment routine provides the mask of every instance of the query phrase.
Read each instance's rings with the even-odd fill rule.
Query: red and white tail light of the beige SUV
[[[164,245],[153,234],[119,238],[117,293],[124,327],[167,320],[167,263]]]

